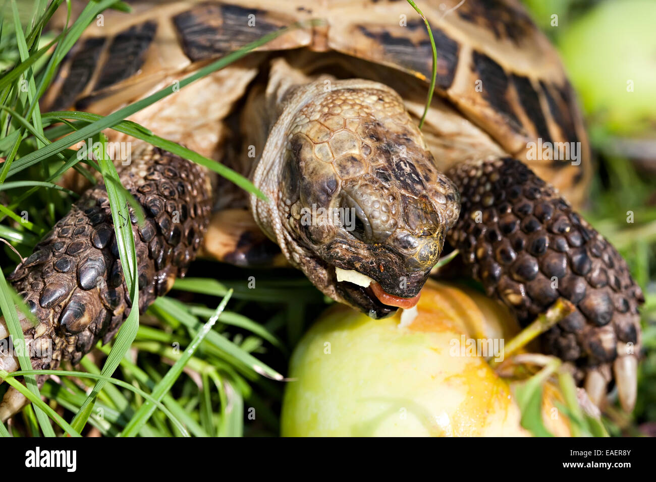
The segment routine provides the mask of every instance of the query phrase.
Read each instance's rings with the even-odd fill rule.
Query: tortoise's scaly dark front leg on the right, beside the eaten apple
[[[543,335],[544,350],[578,367],[597,405],[614,374],[631,411],[644,297],[622,256],[516,159],[464,163],[448,175],[462,203],[448,239],[472,276],[521,323],[561,296],[573,302],[577,310]]]

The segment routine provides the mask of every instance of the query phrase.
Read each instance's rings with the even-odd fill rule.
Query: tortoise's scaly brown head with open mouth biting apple
[[[287,125],[277,238],[325,294],[379,318],[417,302],[459,194],[398,94],[357,82],[312,96]]]

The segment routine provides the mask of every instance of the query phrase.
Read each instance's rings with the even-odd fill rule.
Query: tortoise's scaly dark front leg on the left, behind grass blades
[[[118,172],[146,215],[141,227],[134,214],[126,220],[133,226],[144,311],[194,259],[211,214],[211,186],[201,167],[152,146]],[[104,185],[87,191],[9,279],[38,321],[32,326],[22,319],[34,369],[54,369],[64,359],[77,363],[98,340],[108,342],[131,300]],[[0,338],[7,336],[0,319]],[[0,355],[0,367],[17,369],[12,354]],[[3,420],[22,407],[17,393],[10,390],[0,404]]]

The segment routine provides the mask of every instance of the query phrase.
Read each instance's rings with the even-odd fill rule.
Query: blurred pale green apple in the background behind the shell
[[[558,45],[592,124],[620,136],[649,136],[656,125],[656,35],[653,0],[604,1]],[[653,134],[651,134],[653,135]]]

